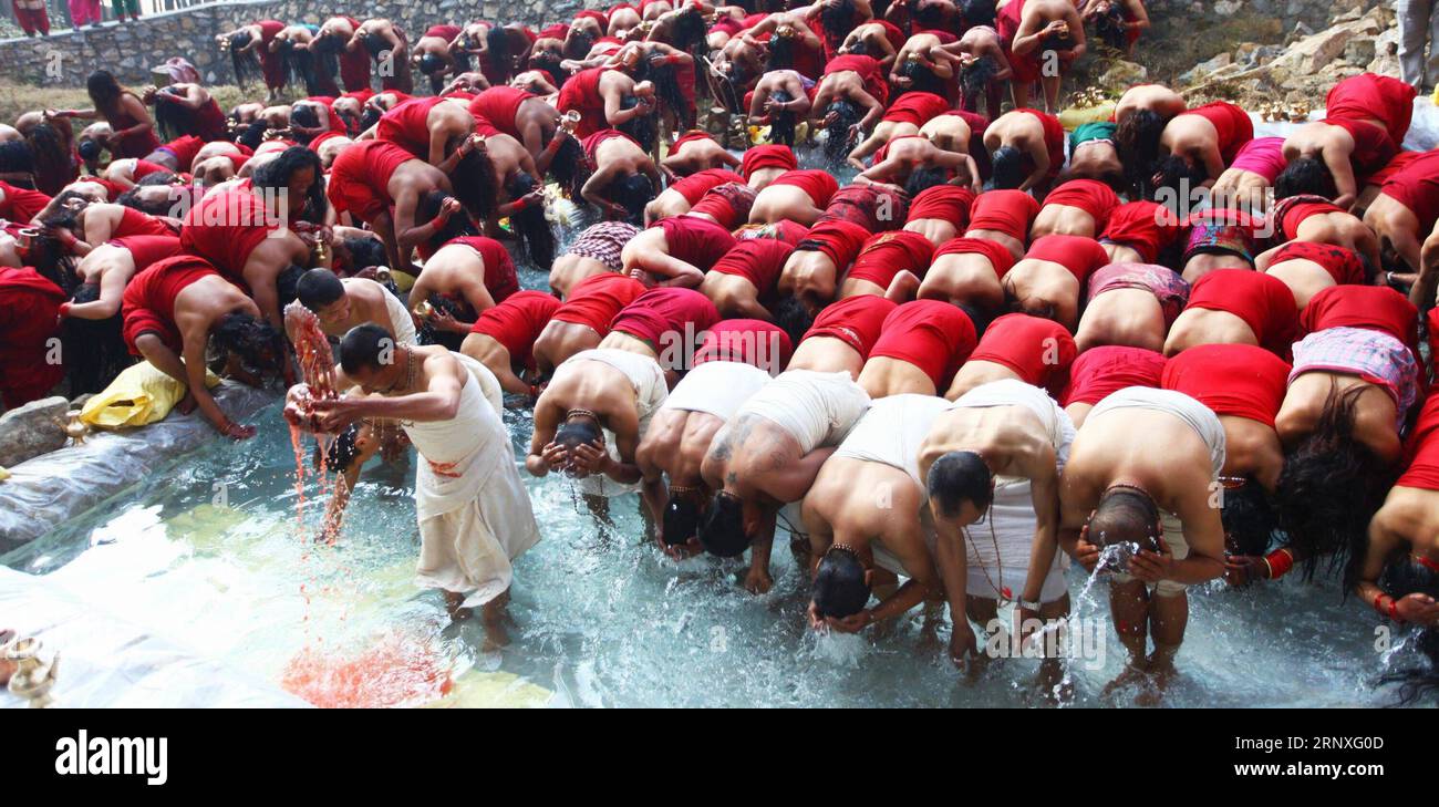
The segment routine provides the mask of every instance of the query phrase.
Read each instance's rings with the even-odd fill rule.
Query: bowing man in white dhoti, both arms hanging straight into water
[[[954,663],[980,657],[968,620],[990,626],[1003,603],[1017,601],[1020,636],[1069,613],[1058,526],[1073,434],[1045,390],[1006,378],[960,396],[925,437],[920,473],[940,538]],[[1042,680],[1059,673],[1059,660],[1046,659]]]

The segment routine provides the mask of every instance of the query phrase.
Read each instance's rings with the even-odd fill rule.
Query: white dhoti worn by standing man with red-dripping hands
[[[512,561],[540,541],[509,433],[473,375],[453,419],[401,426],[420,453],[419,583],[465,594],[463,607],[482,606],[509,588]]]

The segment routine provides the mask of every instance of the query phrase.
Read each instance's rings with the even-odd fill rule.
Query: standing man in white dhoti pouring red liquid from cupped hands
[[[396,345],[384,328],[361,325],[340,342],[337,380],[340,388],[358,386],[366,396],[304,401],[304,393],[292,390],[285,414],[322,432],[367,417],[399,420],[420,455],[419,581],[443,590],[456,619],[481,607],[486,636],[501,644],[512,562],[540,541],[540,529],[509,434],[476,367],[488,373],[440,345]]]

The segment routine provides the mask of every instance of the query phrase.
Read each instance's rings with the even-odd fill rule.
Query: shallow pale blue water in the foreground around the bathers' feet
[[[521,283],[545,288],[530,269]],[[509,410],[505,421],[522,457],[530,413]],[[568,482],[522,470],[544,539],[515,568],[511,644],[485,653],[478,624],[450,623],[440,596],[413,584],[413,456],[400,466],[371,460],[340,541],[317,545],[307,534],[322,514],[318,485],[311,476],[298,522],[294,452],[278,404],[255,423],[256,439],[217,440],[0,562],[88,591],[117,616],[319,705],[419,705],[442,695],[576,706],[1043,702],[1030,683],[1033,659],[996,662],[963,680],[943,652],[921,647],[918,611],[882,639],[816,636],[784,535],[776,538],[774,588],[754,597],[738,585],[741,562],[663,558],[643,539],[637,496],[614,499],[613,525],[602,526]],[[1072,568],[1069,581],[1089,640],[1089,653],[1068,666],[1072,703],[1128,705],[1138,690],[1101,695],[1124,662],[1107,584],[1078,597],[1086,577]],[[1197,587],[1180,676],[1164,702],[1387,703],[1393,695],[1376,690],[1376,680],[1413,659],[1403,647],[1383,653],[1376,624],[1356,603],[1341,603],[1333,583]],[[947,642],[947,627],[940,639]]]

